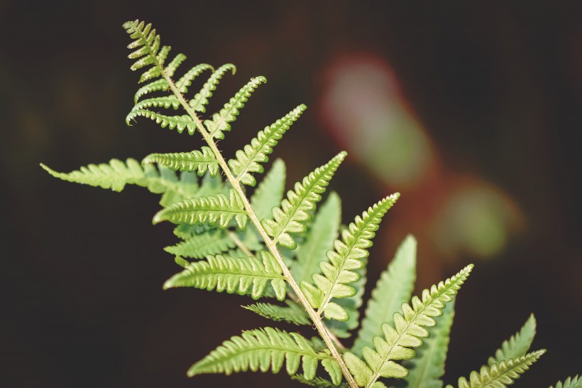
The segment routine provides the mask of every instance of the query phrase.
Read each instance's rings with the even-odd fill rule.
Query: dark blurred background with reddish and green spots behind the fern
[[[237,65],[211,111],[268,78],[224,152],[305,103],[274,153],[289,185],[346,149],[331,184],[344,222],[402,193],[375,239],[367,295],[409,232],[417,290],[476,264],[446,382],[529,313],[534,348],[549,352],[516,386],[582,372],[582,3],[0,1],[0,387],[299,386],[271,374],[187,379],[230,335],[270,323],[238,308],[240,296],[161,290],[177,267],[162,250],[171,226],[151,225],[155,195],[72,185],[38,166],[202,145],[146,119],[124,124],[138,75],[121,24],[133,18],[187,65]]]

